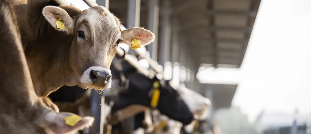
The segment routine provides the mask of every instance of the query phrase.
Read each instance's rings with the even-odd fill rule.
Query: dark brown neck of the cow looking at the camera
[[[22,43],[39,97],[48,96],[63,85],[76,85],[74,75],[68,73],[73,72],[68,61],[73,37],[55,30],[43,17],[42,8],[49,4],[47,0],[40,0],[40,3],[28,0],[27,6],[30,7],[16,5],[16,12],[20,12],[17,13],[18,24],[24,33],[21,35]],[[33,5],[36,8],[31,7]],[[29,16],[25,17],[25,14]]]

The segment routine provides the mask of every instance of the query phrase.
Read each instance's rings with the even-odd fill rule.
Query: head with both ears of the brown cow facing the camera
[[[109,68],[118,44],[131,45],[135,38],[142,45],[148,45],[155,39],[155,35],[140,27],[121,31],[119,19],[102,6],[84,11],[75,10],[78,11],[75,17],[70,17],[64,9],[54,6],[44,7],[42,13],[55,29],[73,35],[69,64],[77,74],[77,84],[85,89],[110,88]],[[58,18],[65,29],[57,28]]]

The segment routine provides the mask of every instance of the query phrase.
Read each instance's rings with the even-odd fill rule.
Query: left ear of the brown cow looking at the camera
[[[64,9],[55,6],[46,6],[43,8],[42,14],[56,30],[72,34],[74,22]]]

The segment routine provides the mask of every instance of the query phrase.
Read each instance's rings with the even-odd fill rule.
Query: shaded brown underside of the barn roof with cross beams
[[[198,63],[240,67],[261,0],[160,0],[160,14],[170,2],[188,53]],[[128,0],[109,2],[109,10],[126,26]],[[140,26],[147,27],[148,0],[141,0]],[[160,17],[161,21],[161,17]],[[159,23],[161,27],[161,23]]]

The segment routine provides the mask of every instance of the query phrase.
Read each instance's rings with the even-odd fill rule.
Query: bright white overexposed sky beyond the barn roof
[[[88,8],[82,0],[66,1]],[[217,69],[198,77],[239,83],[232,103],[251,121],[263,108],[282,113],[298,108],[311,114],[310,5],[310,0],[262,0],[241,69]]]

